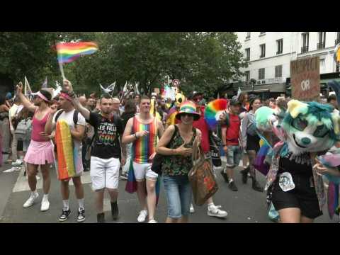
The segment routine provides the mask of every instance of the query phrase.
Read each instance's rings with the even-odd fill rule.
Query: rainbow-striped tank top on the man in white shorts
[[[132,159],[139,164],[147,164],[149,157],[155,152],[157,146],[157,121],[152,120],[149,124],[140,123],[136,117],[133,118],[132,134],[142,130],[149,131],[149,135],[139,137],[132,143]]]

